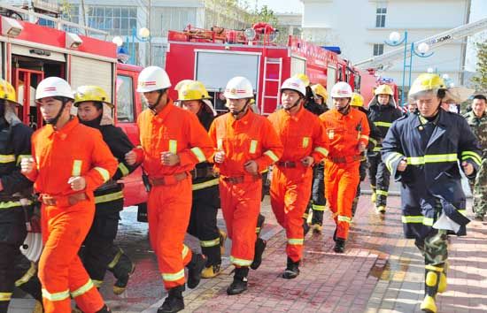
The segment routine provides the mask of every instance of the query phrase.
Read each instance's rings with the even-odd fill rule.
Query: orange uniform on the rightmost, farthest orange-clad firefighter
[[[336,223],[336,237],[346,240],[352,221],[352,202],[359,185],[359,142],[367,147],[370,129],[367,116],[350,108],[343,115],[336,109],[321,114],[329,138],[325,162],[325,196]]]

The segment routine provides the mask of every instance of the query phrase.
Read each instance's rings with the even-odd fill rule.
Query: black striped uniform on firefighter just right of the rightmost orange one
[[[387,105],[382,105],[377,102],[377,95],[372,100],[368,107],[368,118],[379,128],[382,133],[382,139],[387,134],[392,122],[402,116],[402,111],[397,109],[394,101],[390,96],[390,101]],[[383,163],[381,158],[381,142],[377,142],[372,151],[367,151],[368,159],[368,177],[372,191],[377,195],[375,205],[385,206],[387,204],[387,195],[389,193],[390,172]]]

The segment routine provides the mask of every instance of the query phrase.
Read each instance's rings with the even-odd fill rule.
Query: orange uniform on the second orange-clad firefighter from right
[[[314,163],[320,162],[328,155],[329,143],[320,119],[304,108],[295,116],[283,109],[276,111],[269,120],[284,146],[284,153],[272,172],[272,210],[277,222],[286,230],[286,253],[293,262],[298,262],[303,257],[302,218],[313,180],[313,167],[305,167],[301,159],[313,156]]]

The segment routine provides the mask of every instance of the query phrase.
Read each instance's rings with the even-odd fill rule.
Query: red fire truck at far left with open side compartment
[[[32,15],[32,12],[4,4],[0,9],[15,10],[18,17]],[[61,27],[74,26],[66,22]],[[116,125],[135,145],[139,143],[135,121],[143,104],[140,95],[135,93],[135,85],[142,68],[118,63],[114,43],[1,16],[0,70],[2,77],[11,81],[17,90],[19,103],[22,103],[19,117],[27,125],[33,128],[43,125],[34,101],[35,88],[43,78],[58,76],[69,81],[73,89],[81,85],[104,88],[115,103]],[[141,170],[125,178],[123,183],[127,206],[146,202]]]

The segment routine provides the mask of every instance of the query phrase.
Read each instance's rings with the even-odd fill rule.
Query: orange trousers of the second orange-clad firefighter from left
[[[191,178],[174,185],[152,187],[149,193],[148,219],[151,246],[166,289],[184,284],[184,266],[191,250],[184,248],[184,235],[191,212]]]

